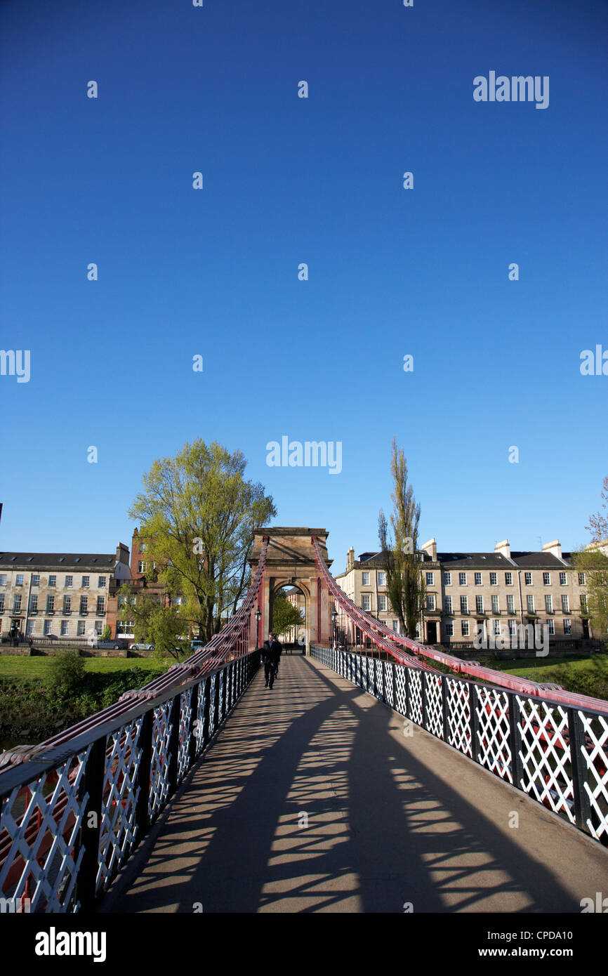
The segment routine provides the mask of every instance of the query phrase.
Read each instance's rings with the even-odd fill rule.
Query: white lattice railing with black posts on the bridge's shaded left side
[[[260,667],[235,658],[0,777],[0,894],[94,911]]]

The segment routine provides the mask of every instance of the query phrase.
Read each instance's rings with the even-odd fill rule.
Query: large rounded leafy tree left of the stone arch
[[[141,524],[148,565],[182,595],[182,619],[204,640],[235,612],[250,581],[254,529],[276,515],[263,485],[244,478],[246,467],[241,451],[199,438],[153,463],[129,511]]]

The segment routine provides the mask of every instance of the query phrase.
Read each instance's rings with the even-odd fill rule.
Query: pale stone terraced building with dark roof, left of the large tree
[[[122,543],[114,553],[0,552],[0,635],[95,640],[111,588],[130,578]]]

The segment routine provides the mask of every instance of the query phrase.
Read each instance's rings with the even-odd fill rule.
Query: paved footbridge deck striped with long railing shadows
[[[597,843],[416,726],[405,737],[401,716],[334,671],[283,655],[102,911],[578,914],[607,890]]]

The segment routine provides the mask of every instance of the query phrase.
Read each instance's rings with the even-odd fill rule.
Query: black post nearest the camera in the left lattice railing
[[[96,903],[104,781],[105,736],[101,736],[89,752],[81,787],[81,796],[88,794],[78,834],[78,845],[84,847],[76,878],[76,901],[81,912],[92,912]]]

